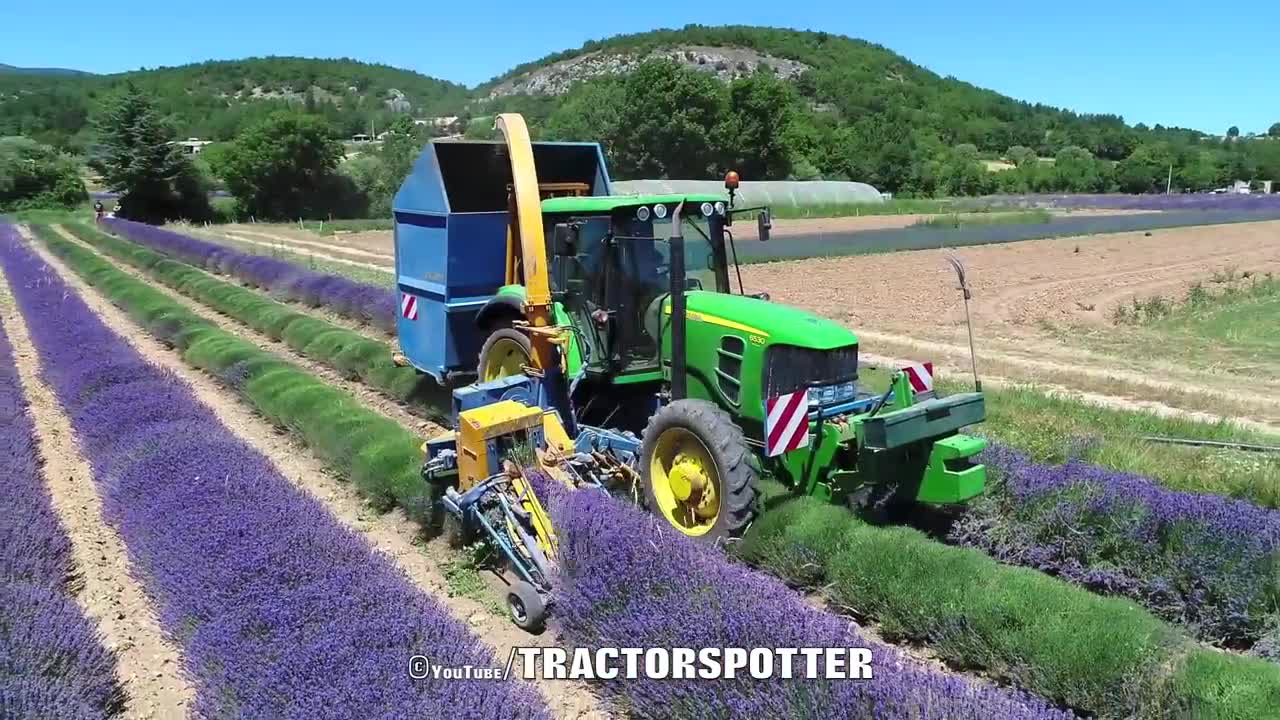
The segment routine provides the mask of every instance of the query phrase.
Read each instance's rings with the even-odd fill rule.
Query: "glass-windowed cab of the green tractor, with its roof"
[[[553,297],[579,328],[584,369],[660,373],[660,310],[671,293],[671,236],[681,218],[685,288],[730,292],[721,197],[557,197],[543,201]]]

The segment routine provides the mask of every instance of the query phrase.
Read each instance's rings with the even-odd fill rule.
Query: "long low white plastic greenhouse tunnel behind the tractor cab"
[[[649,195],[666,192],[724,193],[723,181],[614,181],[614,195]],[[884,197],[864,182],[845,181],[742,181],[737,188],[741,206],[813,208],[815,205],[852,205],[883,202]]]

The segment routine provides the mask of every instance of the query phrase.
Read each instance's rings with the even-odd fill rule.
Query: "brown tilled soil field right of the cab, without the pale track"
[[[860,327],[928,332],[964,320],[946,263],[952,252],[968,268],[970,309],[983,331],[1042,320],[1096,323],[1134,295],[1180,295],[1224,268],[1280,270],[1280,222],[809,259],[744,268],[742,275],[781,302],[842,315]],[[815,301],[815,283],[836,295]]]

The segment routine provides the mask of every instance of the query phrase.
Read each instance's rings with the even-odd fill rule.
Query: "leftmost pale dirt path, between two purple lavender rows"
[[[82,579],[76,602],[102,633],[104,646],[115,652],[128,693],[124,716],[183,717],[195,691],[183,676],[178,647],[160,629],[150,597],[131,571],[124,541],[102,515],[93,469],[76,442],[76,430],[58,396],[40,377],[40,356],[3,272],[0,324],[13,345],[29,402],[51,503],[70,538],[72,561]]]

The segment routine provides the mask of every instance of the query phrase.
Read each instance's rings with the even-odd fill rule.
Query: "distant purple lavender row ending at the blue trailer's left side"
[[[232,275],[285,300],[311,307],[324,306],[383,331],[396,331],[396,292],[385,287],[315,273],[287,260],[239,252],[145,223],[119,218],[109,218],[104,223],[113,232],[184,263]]]

